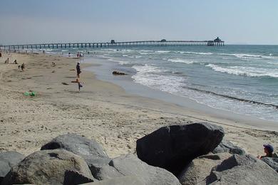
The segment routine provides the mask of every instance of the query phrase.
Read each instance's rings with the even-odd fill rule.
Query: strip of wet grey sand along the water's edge
[[[221,120],[227,120],[230,121],[230,125],[232,126],[257,128],[264,130],[271,129],[278,132],[278,124],[275,121],[264,120],[262,118],[254,117],[251,115],[240,115],[227,110],[220,110],[215,107],[210,107],[208,105],[197,102],[196,100],[192,100],[190,97],[180,97],[161,90],[155,90],[149,88],[148,86],[135,83],[131,78],[130,74],[126,76],[113,76],[111,75],[112,71],[117,70],[117,67],[119,67],[117,62],[105,60],[104,58],[90,57],[86,58],[86,60],[83,63],[93,63],[94,65],[98,65],[96,68],[88,67],[84,70],[93,72],[94,74],[96,74],[96,78],[98,78],[99,80],[119,85],[121,88],[125,90],[125,93],[128,93],[129,95],[148,97],[150,99],[175,104],[177,106],[180,106],[181,108],[186,109],[187,111],[191,111],[192,113],[194,113],[194,118],[196,119],[198,119],[197,114],[199,114],[200,112],[201,115],[206,115],[206,117],[213,117],[215,120],[220,120],[210,120],[210,122],[219,123],[221,122]],[[107,71],[109,71],[109,73]],[[180,114],[177,113],[177,115],[182,115],[182,112],[180,112]],[[202,118],[199,119],[206,120]]]

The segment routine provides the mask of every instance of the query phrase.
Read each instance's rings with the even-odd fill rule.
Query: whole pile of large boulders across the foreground
[[[95,140],[65,134],[28,157],[0,153],[0,184],[278,184],[270,165],[224,134],[208,123],[161,127],[138,139],[137,156],[114,159]]]

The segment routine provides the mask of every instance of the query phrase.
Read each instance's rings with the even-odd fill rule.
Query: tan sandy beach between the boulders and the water
[[[24,72],[6,58],[25,63]],[[4,53],[0,58],[0,152],[31,154],[60,134],[96,139],[109,157],[134,153],[135,142],[165,125],[211,122],[225,129],[225,139],[257,156],[262,144],[278,149],[277,125],[255,118],[217,116],[170,102],[126,93],[113,83],[82,70],[78,93],[77,58],[35,53]],[[56,66],[51,66],[55,62]],[[81,69],[92,64],[81,63]],[[110,73],[110,72],[108,72]],[[115,76],[115,78],[117,78]],[[68,85],[64,85],[64,84]],[[36,91],[35,97],[24,96]],[[266,126],[267,125],[267,126]],[[273,126],[273,129],[269,129]]]

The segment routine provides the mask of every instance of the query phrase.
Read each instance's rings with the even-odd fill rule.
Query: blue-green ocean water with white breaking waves
[[[278,46],[63,48],[46,53],[77,51],[117,63],[135,83],[149,88],[278,121]]]

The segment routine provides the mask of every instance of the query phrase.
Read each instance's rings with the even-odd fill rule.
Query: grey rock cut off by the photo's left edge
[[[4,176],[11,170],[11,167],[19,164],[24,157],[23,154],[14,151],[0,153],[0,184]]]

